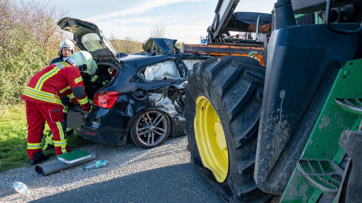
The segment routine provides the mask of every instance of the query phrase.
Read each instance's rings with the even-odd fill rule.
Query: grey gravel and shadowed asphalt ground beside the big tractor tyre
[[[149,150],[131,143],[84,146],[109,165],[83,170],[85,163],[45,177],[34,166],[8,170],[0,174],[0,202],[223,202],[192,167],[186,145],[180,136]],[[15,181],[31,193],[16,193]]]

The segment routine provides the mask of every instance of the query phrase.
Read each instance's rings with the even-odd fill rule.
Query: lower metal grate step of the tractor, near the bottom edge
[[[337,193],[344,170],[331,160],[300,159],[298,170],[312,186],[323,193]]]

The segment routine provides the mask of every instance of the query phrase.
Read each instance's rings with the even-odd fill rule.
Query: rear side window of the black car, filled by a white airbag
[[[170,81],[180,78],[176,63],[172,61],[163,61],[156,64],[146,66],[141,72],[148,81]]]

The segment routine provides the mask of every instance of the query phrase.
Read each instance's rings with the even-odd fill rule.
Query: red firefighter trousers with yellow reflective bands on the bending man
[[[54,136],[55,154],[70,152],[61,122],[64,120],[63,107],[51,103],[34,103],[25,100],[26,120],[28,121],[28,156],[33,159],[36,152],[42,151],[42,127],[47,122]]]

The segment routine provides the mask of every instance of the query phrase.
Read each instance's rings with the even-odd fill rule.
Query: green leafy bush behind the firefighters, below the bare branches
[[[7,38],[0,44],[0,111],[21,102],[30,78],[54,55],[39,47],[26,28],[14,26],[3,32]]]

